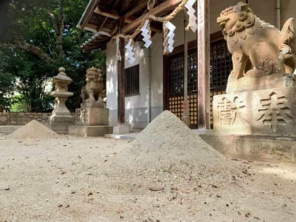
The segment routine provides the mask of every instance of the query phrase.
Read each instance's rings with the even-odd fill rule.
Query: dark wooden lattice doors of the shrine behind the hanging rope
[[[166,59],[167,109],[179,118],[182,117],[184,101],[184,52]],[[210,85],[211,112],[210,124],[213,128],[213,96],[224,94],[228,76],[232,70],[231,55],[224,39],[211,42]],[[188,102],[190,127],[198,127],[197,119],[197,49],[188,51]]]

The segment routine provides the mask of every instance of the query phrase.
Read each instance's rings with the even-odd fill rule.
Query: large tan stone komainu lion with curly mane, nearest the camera
[[[239,2],[222,11],[217,19],[223,29],[233,71],[229,81],[244,76],[293,74],[296,68],[296,36],[294,18],[282,31],[260,20],[249,5]]]

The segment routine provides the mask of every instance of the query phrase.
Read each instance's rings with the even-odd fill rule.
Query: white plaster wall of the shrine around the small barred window
[[[139,64],[140,74],[140,95],[129,96],[125,98],[125,109],[137,109],[148,107],[148,49],[142,47],[142,42],[135,42],[134,53],[136,61],[130,64],[125,60],[125,67],[129,68]],[[107,108],[117,110],[117,61],[116,45],[114,41],[107,44]],[[161,107],[162,98],[162,35],[156,34],[153,37],[153,43],[150,46],[150,62],[151,62],[151,107]]]

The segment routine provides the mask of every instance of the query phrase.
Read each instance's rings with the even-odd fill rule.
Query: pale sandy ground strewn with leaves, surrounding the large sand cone
[[[296,221],[295,164],[233,160],[250,175],[210,192],[198,182],[178,186],[178,178],[161,191],[127,189],[126,178],[110,184],[100,169],[133,142],[3,139],[9,130],[0,129],[0,222]]]

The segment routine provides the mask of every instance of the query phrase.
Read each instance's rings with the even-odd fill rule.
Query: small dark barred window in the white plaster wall
[[[125,69],[125,96],[140,94],[139,65]]]

